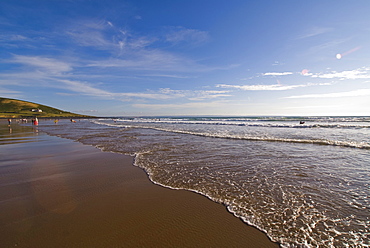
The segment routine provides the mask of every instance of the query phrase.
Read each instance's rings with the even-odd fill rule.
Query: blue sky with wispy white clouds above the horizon
[[[2,0],[0,96],[97,116],[370,115],[369,10]]]

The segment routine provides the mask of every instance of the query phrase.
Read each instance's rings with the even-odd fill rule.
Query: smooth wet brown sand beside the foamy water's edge
[[[278,247],[133,158],[0,121],[1,247]]]

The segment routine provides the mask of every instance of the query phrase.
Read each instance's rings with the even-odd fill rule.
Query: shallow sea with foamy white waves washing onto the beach
[[[370,117],[41,121],[135,156],[150,180],[226,206],[282,247],[370,247]]]

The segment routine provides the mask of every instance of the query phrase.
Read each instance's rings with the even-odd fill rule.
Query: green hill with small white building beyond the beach
[[[25,118],[25,117],[93,117],[74,114],[42,104],[0,97],[0,118]]]

